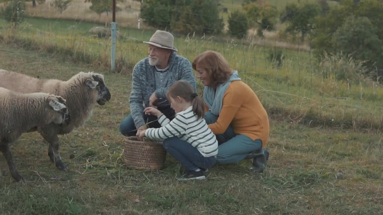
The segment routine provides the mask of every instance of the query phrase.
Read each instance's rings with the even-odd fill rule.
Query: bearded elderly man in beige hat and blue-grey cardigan
[[[167,90],[175,81],[186,80],[196,90],[196,81],[190,61],[175,54],[174,37],[171,33],[157,30],[150,38],[148,57],[139,61],[133,68],[132,91],[129,98],[130,112],[120,124],[119,130],[125,136],[138,138],[144,125],[158,128],[156,116],[145,115],[145,107],[155,107],[170,120],[175,112],[167,100]]]

